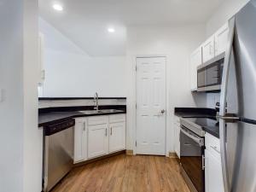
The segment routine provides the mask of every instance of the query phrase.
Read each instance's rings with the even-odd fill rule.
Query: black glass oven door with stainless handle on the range
[[[186,177],[198,192],[205,191],[205,171],[204,171],[204,138],[197,136],[181,126],[180,132],[180,160]]]

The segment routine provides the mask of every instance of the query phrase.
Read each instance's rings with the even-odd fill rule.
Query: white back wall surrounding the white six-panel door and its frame
[[[127,148],[136,138],[136,73],[137,55],[166,55],[167,59],[167,151],[173,151],[173,112],[175,107],[204,107],[205,95],[190,92],[189,55],[205,39],[205,25],[136,26],[127,29]]]

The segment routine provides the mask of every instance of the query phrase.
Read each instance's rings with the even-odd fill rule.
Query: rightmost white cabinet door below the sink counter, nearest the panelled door
[[[125,149],[125,122],[109,124],[109,153]]]

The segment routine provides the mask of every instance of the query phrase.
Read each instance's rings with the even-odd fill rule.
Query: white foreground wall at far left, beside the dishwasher
[[[0,3],[0,191],[41,189],[42,142],[38,137],[38,4]]]

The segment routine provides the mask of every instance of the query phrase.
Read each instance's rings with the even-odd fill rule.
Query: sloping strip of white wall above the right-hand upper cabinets
[[[207,37],[210,37],[235,15],[249,0],[225,0],[207,21]]]

